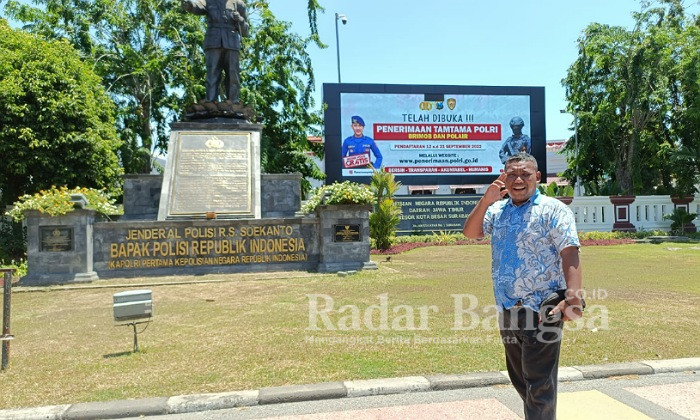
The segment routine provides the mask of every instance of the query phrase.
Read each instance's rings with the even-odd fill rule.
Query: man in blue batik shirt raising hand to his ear
[[[563,321],[582,316],[581,265],[574,215],[555,198],[541,195],[537,161],[527,153],[509,157],[464,224],[464,235],[491,235],[492,277],[506,366],[523,399],[526,419],[554,419]],[[508,199],[502,199],[506,194]],[[552,292],[566,299],[547,311]]]

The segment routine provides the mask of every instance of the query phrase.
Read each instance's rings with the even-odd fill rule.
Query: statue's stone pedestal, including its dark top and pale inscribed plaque
[[[158,220],[259,219],[261,132],[230,119],[173,123]]]

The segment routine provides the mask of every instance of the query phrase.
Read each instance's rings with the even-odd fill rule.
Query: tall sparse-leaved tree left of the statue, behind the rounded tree
[[[167,148],[168,124],[201,90],[204,22],[175,0],[35,0],[10,16],[48,39],[67,39],[102,76],[117,104],[127,172],[147,172]],[[199,90],[198,90],[199,89]]]

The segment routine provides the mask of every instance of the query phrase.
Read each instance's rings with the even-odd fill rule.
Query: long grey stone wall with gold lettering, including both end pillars
[[[95,222],[92,210],[57,217],[30,211],[29,272],[21,282],[376,269],[370,210],[320,206],[315,215],[288,218],[116,222]]]

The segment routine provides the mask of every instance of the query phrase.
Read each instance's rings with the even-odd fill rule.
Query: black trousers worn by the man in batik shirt
[[[538,313],[512,308],[500,315],[508,376],[523,399],[525,419],[555,419],[562,321],[539,323]]]

